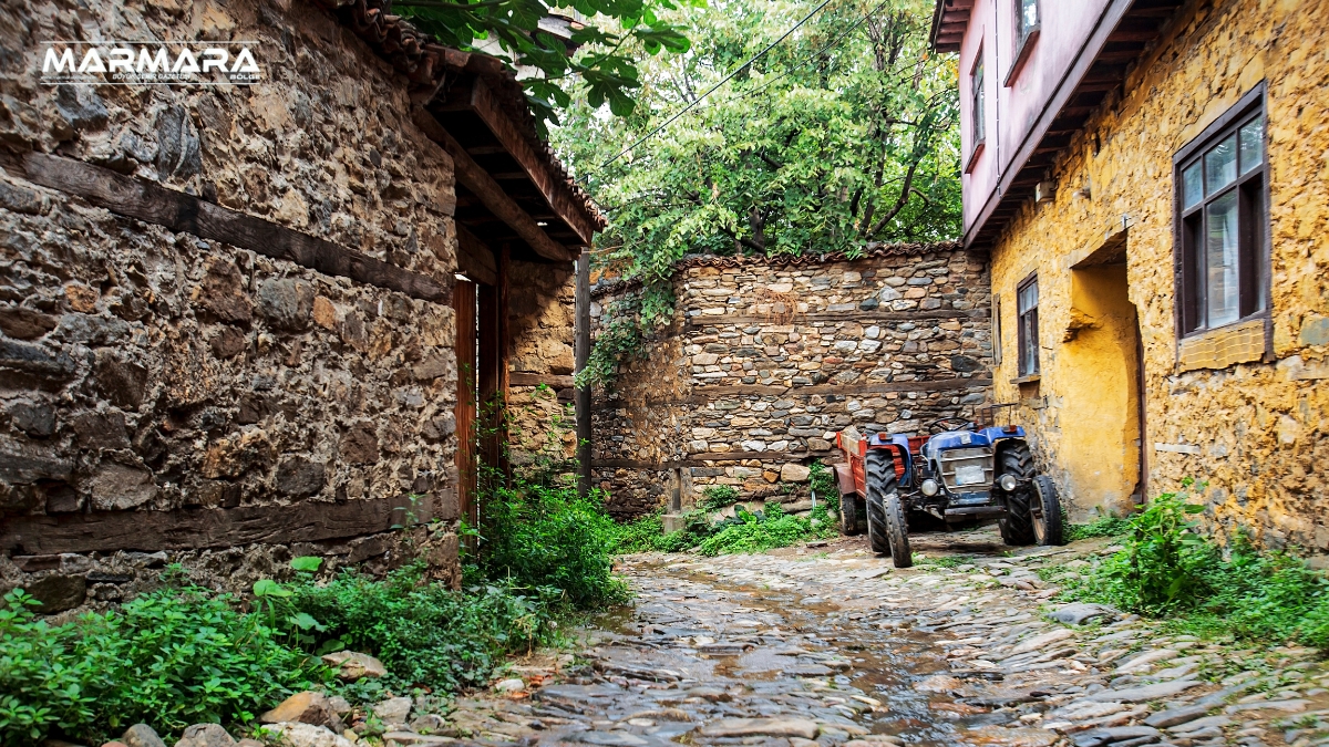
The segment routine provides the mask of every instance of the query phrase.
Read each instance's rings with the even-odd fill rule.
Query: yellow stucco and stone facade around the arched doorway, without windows
[[[1261,85],[1269,322],[1183,343],[1174,156]],[[1329,550],[1329,3],[1188,4],[1051,178],[1055,197],[991,249],[994,379],[1073,518],[1193,477],[1216,533]],[[1041,371],[1018,379],[1015,292],[1033,274]]]

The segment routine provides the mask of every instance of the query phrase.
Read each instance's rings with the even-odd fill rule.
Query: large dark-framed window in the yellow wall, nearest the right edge
[[[1183,336],[1241,322],[1267,308],[1264,242],[1269,214],[1263,93],[1261,88],[1248,94],[1177,154],[1177,300]]]

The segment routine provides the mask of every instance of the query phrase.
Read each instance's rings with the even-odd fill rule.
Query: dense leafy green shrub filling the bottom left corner
[[[0,611],[0,740],[104,742],[137,722],[170,734],[246,722],[249,708],[328,683],[328,670],[258,614],[206,589],[167,589],[49,626],[21,590]]]

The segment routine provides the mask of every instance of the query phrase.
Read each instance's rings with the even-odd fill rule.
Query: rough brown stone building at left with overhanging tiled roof
[[[43,73],[155,40],[259,78]],[[24,3],[0,47],[0,589],[58,611],[405,540],[456,581],[500,453],[476,401],[570,370],[528,348],[570,339],[602,225],[520,84],[376,0]]]

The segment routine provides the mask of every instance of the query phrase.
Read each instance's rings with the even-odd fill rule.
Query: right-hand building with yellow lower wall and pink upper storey
[[[1324,3],[937,3],[995,399],[1074,517],[1192,477],[1220,534],[1329,550],[1326,28]]]

